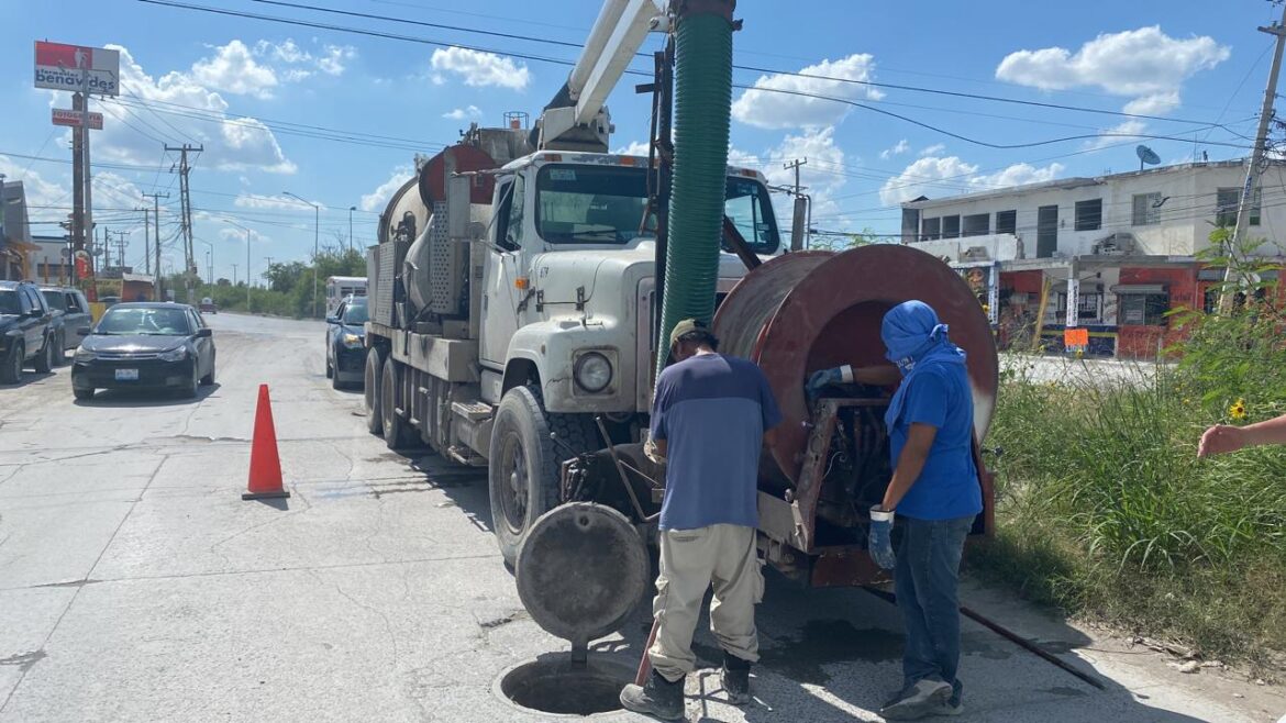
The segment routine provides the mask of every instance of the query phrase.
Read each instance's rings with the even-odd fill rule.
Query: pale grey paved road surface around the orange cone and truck
[[[498,677],[567,643],[526,616],[484,477],[367,434],[329,389],[323,327],[211,318],[219,385],[197,400],[72,400],[68,369],[0,389],[0,723],[548,720]],[[243,502],[257,386],[292,497]],[[967,602],[1103,682],[966,623],[964,719],[1276,720],[1281,691],[1096,637],[971,588]],[[689,720],[874,720],[896,687],[895,610],[769,576],[756,700],[723,704],[718,647]],[[648,621],[594,645],[633,666]],[[1241,696],[1241,697],[1238,697]],[[631,720],[624,713],[599,719]]]

